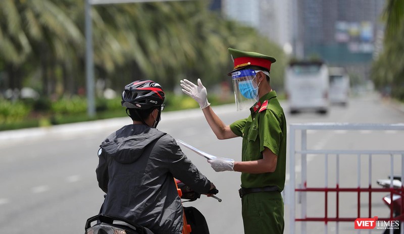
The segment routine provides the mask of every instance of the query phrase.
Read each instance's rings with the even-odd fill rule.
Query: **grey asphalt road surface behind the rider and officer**
[[[326,115],[316,113],[290,115],[287,111],[287,102],[283,101],[281,105],[285,109],[288,124],[404,122],[404,113],[377,95],[352,98],[345,107],[332,106]],[[248,111],[236,112],[234,105],[213,106],[213,109],[226,124],[248,115]],[[111,132],[127,124],[130,124],[129,118],[119,118],[44,129],[0,132],[0,233],[84,233],[85,220],[98,213],[103,201],[103,192],[97,187],[95,178],[98,146]],[[200,109],[163,112],[159,129],[210,154],[240,159],[241,138],[218,140]],[[340,137],[341,135],[336,132],[309,132],[308,145],[312,148],[338,149],[341,146],[348,146],[402,149],[404,139],[400,132],[383,137],[369,137],[372,134],[365,132],[347,137]],[[183,151],[217,186],[220,191],[217,196],[223,200],[219,203],[213,198],[202,197],[198,201],[184,203],[184,206],[198,208],[205,215],[213,234],[243,233],[241,201],[237,194],[240,187],[240,173],[215,172],[204,158],[188,149]],[[309,181],[311,185],[323,185],[324,170],[321,168],[324,167],[324,160],[319,156],[312,158],[308,164]],[[357,162],[356,158],[352,160]],[[354,181],[355,184],[356,165],[349,160],[343,163],[341,183],[349,184]],[[383,160],[377,163],[375,174],[386,178],[389,168],[384,166]],[[399,165],[394,169],[399,171]],[[288,171],[289,168],[287,173]],[[298,177],[297,172],[296,178]],[[374,180],[376,179],[378,178],[374,177]],[[316,215],[324,213],[323,197],[321,194],[308,197],[308,202],[311,203],[309,213]],[[355,215],[356,197],[347,196],[341,199],[341,210],[346,208],[343,212],[349,215],[353,212]],[[372,204],[376,216],[388,213],[381,197],[374,197]],[[366,207],[366,204],[364,206]],[[288,233],[290,225],[287,209],[286,204],[285,233]],[[297,214],[298,209],[297,205]],[[298,225],[296,223],[296,230],[299,230]],[[354,232],[353,225],[353,223],[341,223],[339,233]],[[324,223],[309,223],[307,229],[309,233],[323,233]],[[328,233],[334,232],[335,224],[330,223]],[[374,233],[379,232],[381,233],[381,231]]]

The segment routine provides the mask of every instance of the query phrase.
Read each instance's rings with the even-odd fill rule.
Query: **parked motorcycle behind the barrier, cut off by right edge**
[[[390,177],[388,177],[389,179],[380,179],[377,180],[377,184],[380,185],[381,187],[383,187],[384,189],[389,189],[390,185],[391,185],[391,180]],[[387,194],[386,196],[383,197],[383,202],[389,207],[389,209],[391,210],[392,214],[392,218],[393,218],[393,222],[394,226],[389,226],[383,233],[384,234],[389,234],[390,233],[390,229],[394,229],[393,230],[393,234],[398,234],[401,233],[401,225],[399,223],[396,222],[401,222],[404,220],[403,217],[403,212],[404,211],[404,204],[402,203],[402,198],[401,195],[399,195],[399,192],[401,190],[401,177],[393,177],[392,180],[392,188],[394,190],[397,191],[397,193],[391,192],[390,194]]]

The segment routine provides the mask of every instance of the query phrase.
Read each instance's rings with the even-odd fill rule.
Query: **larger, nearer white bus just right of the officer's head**
[[[329,108],[328,67],[323,62],[291,62],[286,68],[285,91],[290,113],[314,110],[327,113]]]

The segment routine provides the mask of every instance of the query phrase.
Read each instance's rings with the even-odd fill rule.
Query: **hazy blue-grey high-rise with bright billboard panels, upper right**
[[[296,44],[300,56],[320,56],[329,64],[369,63],[383,26],[383,0],[297,1]]]

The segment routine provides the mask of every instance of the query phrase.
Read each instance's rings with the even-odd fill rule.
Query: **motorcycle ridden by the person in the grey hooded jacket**
[[[193,191],[189,186],[179,180],[175,180],[179,197],[184,202],[196,201],[200,193]],[[206,194],[208,197],[222,200],[215,195],[219,190],[213,189]],[[185,201],[183,201],[185,200]],[[182,234],[209,234],[208,223],[205,216],[195,207],[184,207]],[[87,219],[85,223],[85,234],[154,234],[147,227],[133,223],[130,220],[113,217],[105,214],[97,214]]]

